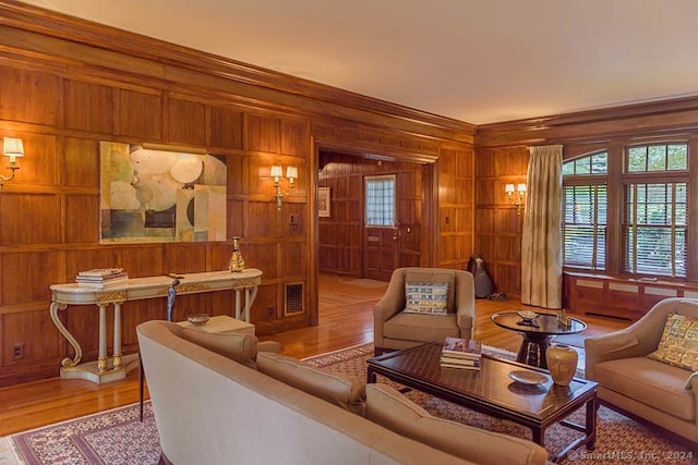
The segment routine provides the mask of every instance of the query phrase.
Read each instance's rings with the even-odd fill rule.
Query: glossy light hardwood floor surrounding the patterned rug
[[[282,353],[303,358],[373,341],[373,305],[387,284],[377,281],[324,274],[320,279],[320,325],[261,336],[281,343]],[[520,336],[496,327],[490,316],[518,310],[518,301],[476,302],[476,339],[485,344],[517,351]],[[625,328],[628,322],[579,316],[588,323],[587,335]],[[139,372],[103,386],[83,380],[51,378],[0,388],[0,437],[139,401]]]

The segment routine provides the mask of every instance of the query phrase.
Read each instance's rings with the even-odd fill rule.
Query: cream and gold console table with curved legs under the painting
[[[178,276],[177,295],[225,290],[236,291],[236,318],[250,322],[250,308],[262,283],[262,271],[249,268],[241,272],[213,271]],[[53,323],[75,350],[73,358],[61,362],[61,378],[87,379],[96,383],[124,379],[128,371],[139,366],[137,354],[121,354],[121,305],[129,301],[167,297],[173,278],[167,276],[133,278],[106,289],[81,287],[76,283],[51,284],[49,313]],[[242,293],[244,292],[244,305]],[[58,316],[69,305],[96,305],[99,309],[99,356],[97,362],[80,363],[83,350]],[[107,357],[107,307],[113,305],[113,355]]]

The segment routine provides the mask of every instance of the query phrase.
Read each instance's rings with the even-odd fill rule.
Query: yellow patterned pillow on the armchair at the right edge
[[[698,370],[698,318],[669,314],[659,347],[648,357],[687,370]]]

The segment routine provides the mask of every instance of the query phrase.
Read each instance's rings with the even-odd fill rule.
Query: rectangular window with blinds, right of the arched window
[[[630,147],[626,167],[623,271],[686,278],[688,145]]]

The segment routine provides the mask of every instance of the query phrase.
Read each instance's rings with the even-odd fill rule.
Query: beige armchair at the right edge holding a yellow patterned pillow
[[[698,442],[698,372],[647,357],[670,313],[698,317],[698,299],[665,298],[628,328],[587,339],[586,377],[603,404]]]

